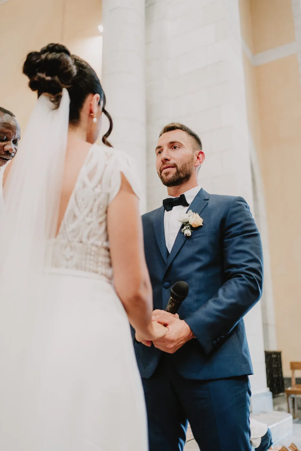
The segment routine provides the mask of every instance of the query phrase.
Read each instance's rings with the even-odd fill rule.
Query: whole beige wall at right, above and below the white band
[[[253,54],[295,40],[291,0],[240,0]],[[301,84],[297,55],[253,66],[244,54],[247,115],[266,203],[278,349],[284,376],[301,360]]]

